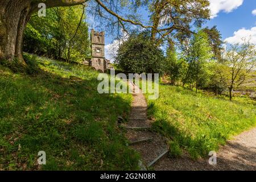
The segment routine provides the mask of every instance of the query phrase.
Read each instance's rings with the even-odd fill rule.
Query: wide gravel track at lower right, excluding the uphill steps
[[[228,140],[217,152],[217,164],[208,159],[191,160],[188,155],[178,159],[165,158],[156,170],[256,170],[256,128]]]

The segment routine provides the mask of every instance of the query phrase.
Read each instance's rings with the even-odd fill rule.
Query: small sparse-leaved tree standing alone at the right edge
[[[256,46],[250,42],[229,45],[224,59],[216,68],[222,84],[229,89],[229,100],[232,100],[233,89],[239,88],[247,78],[252,76],[256,67]]]

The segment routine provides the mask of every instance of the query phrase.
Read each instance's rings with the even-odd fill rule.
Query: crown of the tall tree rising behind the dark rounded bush
[[[208,0],[138,0],[131,1],[133,9],[146,7],[150,15],[147,26],[151,29],[151,40],[160,44],[163,40],[174,41],[191,36],[193,25],[209,19]],[[170,36],[169,36],[170,35]]]

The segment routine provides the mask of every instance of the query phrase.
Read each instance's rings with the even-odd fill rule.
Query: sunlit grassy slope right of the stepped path
[[[248,98],[230,102],[177,86],[159,85],[159,89],[159,99],[148,101],[155,129],[174,141],[170,146],[185,149],[193,158],[217,151],[226,139],[256,126],[256,102]],[[173,152],[180,153],[176,149]]]

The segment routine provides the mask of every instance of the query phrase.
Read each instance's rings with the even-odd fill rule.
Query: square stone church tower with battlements
[[[97,32],[92,29],[90,34],[92,59],[89,62],[91,67],[101,72],[106,72],[110,61],[105,59],[105,35],[104,31]]]

